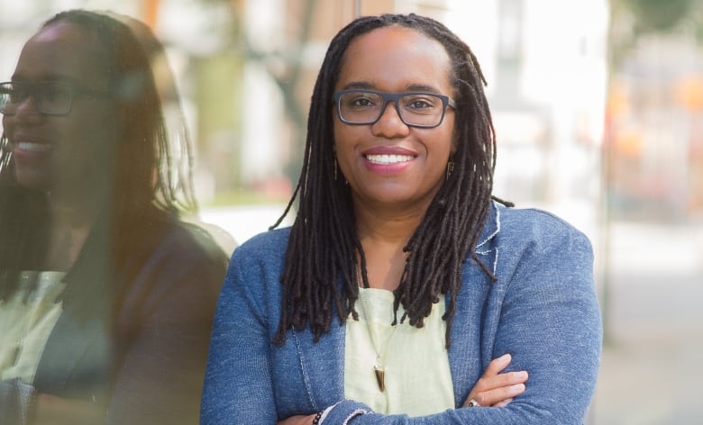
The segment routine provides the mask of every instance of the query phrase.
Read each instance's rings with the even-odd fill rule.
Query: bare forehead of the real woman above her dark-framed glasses
[[[451,60],[443,45],[412,29],[390,26],[354,39],[342,58],[336,89],[369,86],[403,91],[414,86],[449,93]]]

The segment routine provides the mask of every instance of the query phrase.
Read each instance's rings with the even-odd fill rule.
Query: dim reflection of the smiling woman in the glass
[[[56,15],[0,86],[0,418],[197,420],[226,256],[120,21]]]

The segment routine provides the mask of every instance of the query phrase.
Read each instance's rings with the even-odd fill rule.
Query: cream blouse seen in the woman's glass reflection
[[[32,384],[51,330],[61,314],[64,272],[22,272],[17,291],[0,300],[0,381]]]

